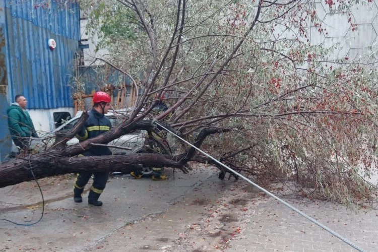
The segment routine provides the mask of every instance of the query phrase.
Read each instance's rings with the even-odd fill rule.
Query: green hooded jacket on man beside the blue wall
[[[12,139],[38,137],[28,111],[23,110],[18,103],[12,103],[7,114]]]

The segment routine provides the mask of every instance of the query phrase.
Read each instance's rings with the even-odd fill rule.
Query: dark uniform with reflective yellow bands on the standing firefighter
[[[104,114],[97,112],[94,108],[88,112],[88,119],[84,124],[84,127],[76,135],[79,141],[84,141],[88,138],[94,138],[98,135],[101,135],[111,129],[111,123]],[[111,155],[111,151],[108,147],[95,146],[84,152],[84,156],[102,156],[102,155]],[[89,178],[91,177],[92,172],[81,172],[78,174],[74,184],[74,198],[81,197],[85,185],[88,183]],[[108,172],[94,172],[93,173],[93,184],[89,191],[88,203],[92,205],[100,204],[98,198],[100,197],[102,191],[105,188],[106,181],[108,179]],[[94,203],[94,204],[93,204]],[[101,203],[102,205],[102,203]],[[99,205],[100,206],[100,205]]]

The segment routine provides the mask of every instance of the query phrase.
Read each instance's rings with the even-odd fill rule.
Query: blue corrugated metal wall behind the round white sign
[[[28,108],[73,106],[69,81],[79,50],[79,6],[56,3],[5,0],[9,97],[24,94]],[[48,47],[50,38],[56,41],[54,50]]]

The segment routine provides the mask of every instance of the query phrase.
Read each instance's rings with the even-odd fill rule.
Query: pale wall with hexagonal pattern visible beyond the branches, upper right
[[[332,14],[325,1],[316,0],[316,11],[326,30],[319,32],[317,27],[310,27],[310,43],[322,43],[326,47],[338,43],[338,48],[329,55],[329,59],[347,57],[349,60],[359,59],[362,63],[375,62],[377,57],[372,54],[376,51],[378,43],[377,5],[378,0],[371,3],[361,1],[345,13]]]

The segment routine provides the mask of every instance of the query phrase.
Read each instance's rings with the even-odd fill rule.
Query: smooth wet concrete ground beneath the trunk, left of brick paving
[[[170,179],[165,181],[134,179],[129,175],[109,179],[100,197],[104,203],[102,207],[89,206],[86,198],[83,203],[75,203],[72,199],[73,179],[67,183],[61,182],[60,185],[64,185],[59,185],[59,188],[43,185],[43,194],[46,199],[50,199],[45,205],[42,221],[33,226],[17,226],[1,221],[0,251],[92,251],[101,247],[101,243],[119,229],[128,228],[134,223],[148,222],[155,216],[164,216],[164,213],[177,202],[185,202],[187,195],[190,195],[190,204],[195,200],[208,204],[212,199],[221,197],[222,192],[229,186],[217,178],[214,168],[196,168],[187,175],[180,172],[173,174],[171,171],[167,169],[166,173],[169,173]],[[30,185],[33,185],[33,182],[2,188],[1,219],[23,224],[39,219],[42,210],[38,202],[40,194],[37,188],[27,190]],[[87,187],[89,186],[90,183]],[[56,199],[50,195],[54,195]],[[86,196],[85,194],[84,197]],[[35,204],[32,204],[33,201]],[[203,207],[197,204],[195,206]],[[191,216],[192,213],[181,214]],[[196,215],[193,212],[193,216]],[[169,220],[165,222],[167,225],[169,223]],[[155,240],[145,241],[145,232],[148,232],[148,237],[164,236],[162,232],[154,236],[155,231],[144,225],[141,229],[142,234],[132,240],[137,250],[141,244],[156,245]],[[133,232],[138,233],[137,230]],[[131,246],[120,249],[117,243],[110,245],[109,249],[116,251],[135,251]]]

